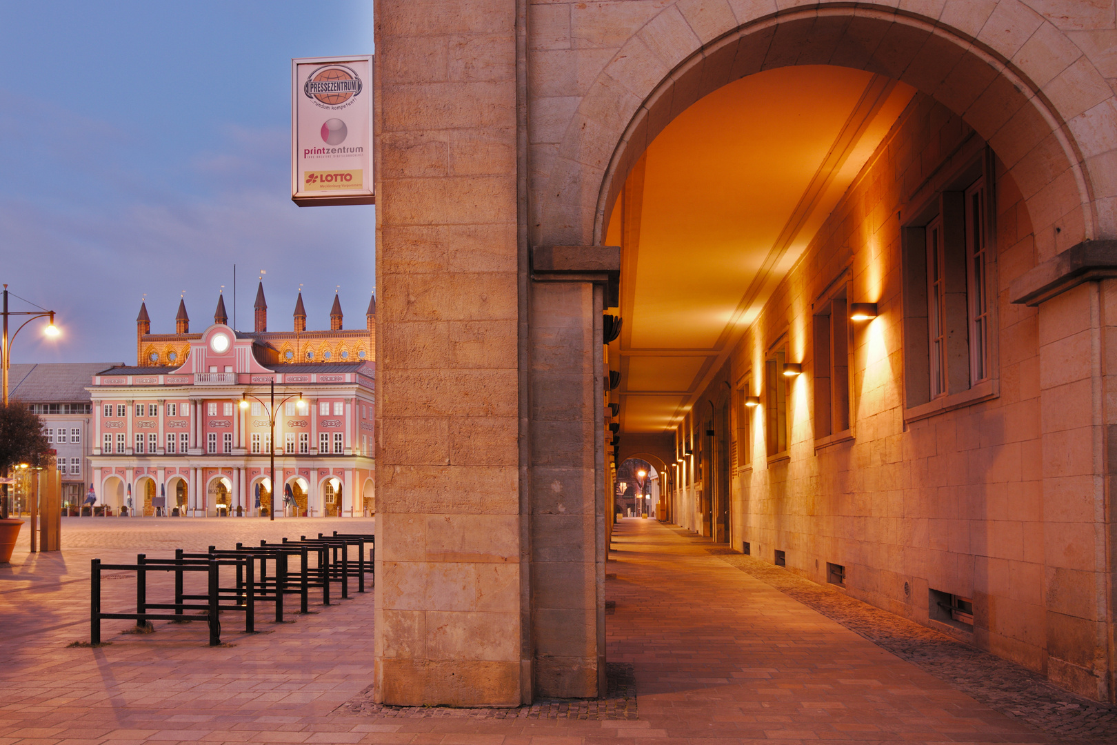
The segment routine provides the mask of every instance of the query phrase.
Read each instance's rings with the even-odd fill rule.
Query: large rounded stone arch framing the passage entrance
[[[986,28],[991,13],[996,20]],[[1023,192],[1041,260],[1117,235],[1117,211],[1099,209],[1117,201],[1109,193],[1117,184],[1100,181],[1117,156],[1102,134],[1117,131],[1117,106],[1062,31],[1022,3],[985,13],[947,0],[927,18],[829,0],[781,11],[773,2],[743,18],[728,7],[660,11],[582,98],[541,195],[534,242],[601,245],[628,173],[678,114],[753,73],[820,64],[903,80],[962,116]]]

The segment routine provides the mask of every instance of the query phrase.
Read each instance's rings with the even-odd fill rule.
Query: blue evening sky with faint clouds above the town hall
[[[251,331],[363,326],[375,284],[373,207],[290,201],[290,58],[371,54],[372,0],[0,0],[0,281],[58,312],[13,362],[135,362],[152,332],[191,331],[226,287]],[[12,300],[12,309],[26,309]]]

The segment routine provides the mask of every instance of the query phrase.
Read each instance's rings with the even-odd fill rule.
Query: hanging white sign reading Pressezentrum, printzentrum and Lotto
[[[290,60],[290,198],[375,204],[372,55]]]

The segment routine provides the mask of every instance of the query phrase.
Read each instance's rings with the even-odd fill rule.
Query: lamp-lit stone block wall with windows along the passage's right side
[[[996,394],[922,419],[906,413],[900,228],[984,145],[941,104],[913,99],[734,351],[731,378],[739,389],[751,376],[751,394],[761,393],[757,372],[782,334],[804,374],[789,388],[790,457],[768,458],[763,416],[735,408],[735,431],[753,416],[753,451],[751,467],[734,471],[732,544],[747,542],[768,562],[783,551],[790,571],[821,583],[828,562],[842,565],[849,594],[1105,698],[1099,324],[1114,290],[1111,280],[1091,283],[1038,309],[1011,302],[1011,283],[1040,257],[1000,159]],[[876,302],[880,315],[853,326],[852,439],[817,447],[812,304],[843,273],[850,300]],[[706,418],[696,407],[684,424],[689,437],[698,439]],[[694,465],[687,472],[680,522],[705,533],[688,489],[708,480],[690,480]],[[973,599],[973,631],[928,620],[930,590]]]

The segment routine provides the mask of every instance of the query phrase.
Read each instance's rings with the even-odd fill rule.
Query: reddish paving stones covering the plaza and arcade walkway
[[[312,613],[281,624],[261,613],[255,634],[227,624],[222,647],[208,647],[198,622],[121,634],[127,621],[103,622],[109,646],[68,647],[89,638],[92,557],[123,562],[373,526],[75,518],[64,524],[63,552],[17,548],[0,569],[0,745],[1105,743],[1117,732],[1105,705],[1041,681],[1025,697],[999,699],[1005,680],[1031,674],[1002,661],[994,679],[975,682],[987,662],[966,655],[983,652],[647,519],[618,525],[605,590],[610,672],[632,677],[636,700],[622,685],[608,706],[370,706],[371,592],[330,606],[315,596]],[[128,576],[109,574],[103,588],[106,610],[135,602]]]

